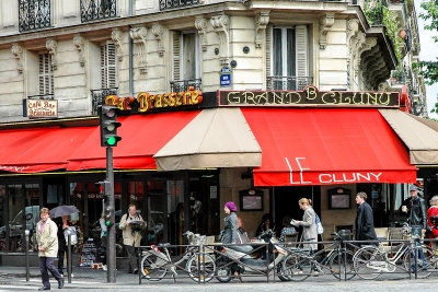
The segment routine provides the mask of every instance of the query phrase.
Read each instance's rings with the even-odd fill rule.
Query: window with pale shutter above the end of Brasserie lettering
[[[172,91],[186,91],[188,86],[201,87],[200,45],[196,33],[173,33],[173,81]]]

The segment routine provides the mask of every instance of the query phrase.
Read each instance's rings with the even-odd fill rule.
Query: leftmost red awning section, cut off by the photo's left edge
[[[95,127],[0,131],[0,171],[39,173],[66,168],[71,153]]]

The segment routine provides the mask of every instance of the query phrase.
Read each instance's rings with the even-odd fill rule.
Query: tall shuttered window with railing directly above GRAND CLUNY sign
[[[267,34],[267,89],[302,90],[311,84],[308,27],[273,27]]]

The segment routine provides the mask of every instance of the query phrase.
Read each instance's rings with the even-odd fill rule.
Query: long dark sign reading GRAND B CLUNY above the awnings
[[[397,107],[397,92],[219,91],[219,104],[229,106],[385,106]]]

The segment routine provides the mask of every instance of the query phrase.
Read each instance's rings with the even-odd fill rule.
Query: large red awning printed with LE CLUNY
[[[242,108],[262,148],[255,186],[414,183],[416,167],[378,109]]]

